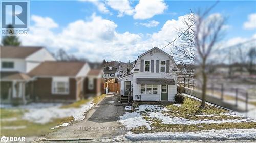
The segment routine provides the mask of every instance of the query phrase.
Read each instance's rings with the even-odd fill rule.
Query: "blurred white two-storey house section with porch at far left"
[[[31,98],[26,91],[28,82],[33,80],[27,73],[55,58],[43,47],[1,46],[0,51],[1,103],[26,103]]]

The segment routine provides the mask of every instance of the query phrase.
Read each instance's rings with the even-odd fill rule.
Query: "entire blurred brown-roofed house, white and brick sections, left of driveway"
[[[100,95],[103,71],[86,62],[55,61],[42,47],[1,47],[0,75],[1,103],[26,104]]]

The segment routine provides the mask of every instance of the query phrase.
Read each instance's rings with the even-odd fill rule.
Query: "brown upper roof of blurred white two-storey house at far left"
[[[23,46],[1,46],[1,58],[26,58],[32,53],[42,49],[42,47]]]

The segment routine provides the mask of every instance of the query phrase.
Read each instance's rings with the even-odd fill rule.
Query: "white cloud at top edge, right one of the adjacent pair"
[[[134,19],[148,19],[157,14],[162,14],[167,5],[162,0],[140,0],[135,6]]]

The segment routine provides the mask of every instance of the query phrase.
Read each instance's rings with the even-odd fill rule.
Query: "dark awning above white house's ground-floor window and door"
[[[137,84],[175,85],[174,79],[165,78],[137,78]]]

